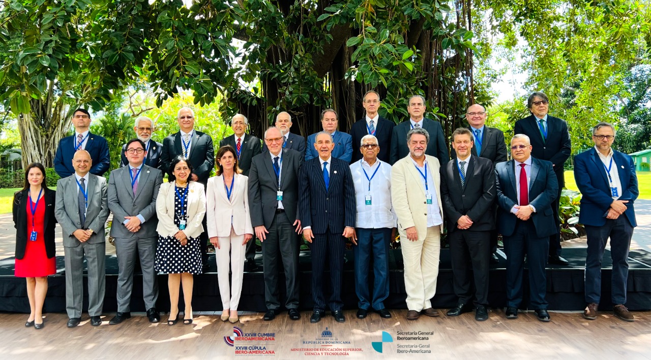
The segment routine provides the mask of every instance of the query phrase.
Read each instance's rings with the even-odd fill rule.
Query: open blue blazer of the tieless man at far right
[[[637,222],[635,222],[633,202],[640,192],[637,188],[633,159],[613,150],[613,162],[619,174],[619,181],[622,183],[622,194],[619,199],[628,200],[624,214],[631,226],[635,227]],[[613,198],[603,162],[595,148],[574,157],[574,179],[581,192],[579,222],[584,225],[602,226],[606,222],[605,216],[613,203]]]

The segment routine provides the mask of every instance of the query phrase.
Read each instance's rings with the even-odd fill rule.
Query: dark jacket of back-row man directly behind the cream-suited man
[[[448,155],[448,143],[445,141],[441,123],[424,118],[422,120],[422,128],[430,133],[430,143],[427,144],[425,154],[436,157],[441,164],[446,164],[450,160],[450,157]],[[407,147],[407,133],[409,130],[411,130],[410,120],[401,122],[393,128],[393,135],[391,135],[391,155],[389,155],[391,165],[409,155],[409,148]]]

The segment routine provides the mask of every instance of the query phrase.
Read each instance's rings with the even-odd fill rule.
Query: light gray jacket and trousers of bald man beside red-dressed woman
[[[88,294],[90,316],[102,315],[105,290],[106,238],[104,225],[109,217],[106,201],[106,179],[89,174],[88,207],[83,229],[92,229],[93,234],[86,242],[80,242],[72,233],[82,229],[79,218],[77,192],[79,188],[75,174],[57,182],[55,216],[63,231],[63,250],[66,263],[66,311],[70,318],[81,317],[83,303],[83,260],[87,261]]]

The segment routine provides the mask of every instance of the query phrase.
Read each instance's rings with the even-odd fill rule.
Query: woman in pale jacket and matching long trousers
[[[249,179],[240,174],[238,158],[232,146],[217,151],[216,176],[208,179],[206,225],[210,243],[215,246],[217,279],[223,312],[221,320],[238,322],[238,304],[242,294],[244,253],[253,238],[249,214]],[[229,285],[229,263],[232,283]]]

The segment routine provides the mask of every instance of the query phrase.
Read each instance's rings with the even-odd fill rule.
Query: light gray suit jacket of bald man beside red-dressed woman
[[[81,242],[72,235],[81,229],[79,218],[78,192],[75,174],[57,181],[57,201],[54,209],[55,217],[63,230],[63,246],[74,248]],[[101,176],[89,174],[88,180],[88,209],[86,210],[86,229],[94,232],[88,239],[89,244],[105,242],[104,227],[109,217],[109,204],[107,201],[106,179]]]

